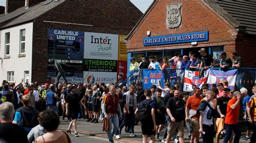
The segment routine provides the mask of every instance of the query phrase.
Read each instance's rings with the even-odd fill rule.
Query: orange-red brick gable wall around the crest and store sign
[[[166,27],[166,5],[181,4],[181,25],[178,28]],[[192,46],[190,42],[183,44],[170,44],[160,46],[143,46],[143,38],[147,37],[146,31],[151,31],[151,37],[159,35],[190,33],[208,31],[209,40],[198,42],[197,46]],[[179,49],[205,46],[224,45],[227,54],[235,49],[235,39],[237,31],[220,18],[217,13],[198,1],[166,0],[157,1],[150,10],[144,21],[139,24],[136,32],[126,42],[127,51],[151,51],[158,49]]]

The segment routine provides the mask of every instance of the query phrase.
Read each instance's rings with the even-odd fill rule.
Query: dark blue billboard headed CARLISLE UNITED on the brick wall
[[[78,83],[83,81],[84,32],[48,30],[47,77]],[[60,82],[59,81],[59,82]]]

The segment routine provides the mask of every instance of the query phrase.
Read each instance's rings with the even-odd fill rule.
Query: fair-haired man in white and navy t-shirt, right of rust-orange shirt
[[[213,142],[213,132],[216,129],[214,126],[215,119],[213,119],[213,91],[206,91],[206,101],[203,100],[199,105],[198,111],[200,113],[199,117],[199,132],[203,136],[204,142]]]

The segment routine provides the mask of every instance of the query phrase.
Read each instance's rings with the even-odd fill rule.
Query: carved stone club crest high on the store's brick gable
[[[173,4],[166,6],[167,28],[179,27],[181,24],[181,5]]]

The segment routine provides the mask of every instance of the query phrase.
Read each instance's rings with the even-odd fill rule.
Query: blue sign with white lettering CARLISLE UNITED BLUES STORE
[[[208,41],[208,31],[143,38],[143,45],[165,45],[194,41]]]

